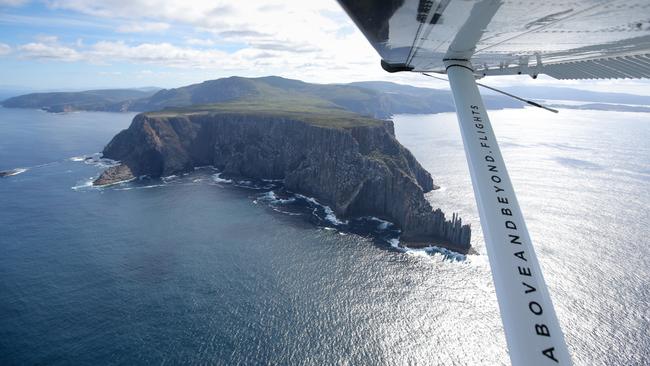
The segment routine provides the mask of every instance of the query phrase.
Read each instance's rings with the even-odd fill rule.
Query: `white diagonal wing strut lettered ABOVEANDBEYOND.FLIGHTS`
[[[512,364],[570,365],[472,66],[448,60],[446,68]]]

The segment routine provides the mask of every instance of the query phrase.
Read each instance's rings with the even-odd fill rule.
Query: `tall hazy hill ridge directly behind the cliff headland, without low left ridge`
[[[261,78],[229,77],[204,81],[176,89],[161,90],[135,102],[132,110],[157,111],[169,107],[223,103],[238,99],[321,99],[359,114],[387,118],[398,113],[439,113],[454,111],[448,90],[415,88],[389,82],[352,84],[312,84],[278,76]],[[488,96],[490,108],[519,108],[516,100]]]

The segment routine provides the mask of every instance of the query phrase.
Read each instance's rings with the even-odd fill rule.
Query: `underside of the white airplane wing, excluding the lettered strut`
[[[650,77],[650,1],[340,0],[388,71]],[[470,47],[471,46],[471,47]]]

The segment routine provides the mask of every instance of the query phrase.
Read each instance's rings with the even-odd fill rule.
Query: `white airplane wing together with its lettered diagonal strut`
[[[570,365],[476,79],[650,77],[650,1],[338,1],[386,71],[447,75],[512,364]]]

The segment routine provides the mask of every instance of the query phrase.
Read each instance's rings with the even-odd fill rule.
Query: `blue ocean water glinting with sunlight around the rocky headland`
[[[574,363],[648,364],[650,115],[490,115]],[[132,117],[0,108],[1,365],[509,363],[454,114],[394,121],[467,256],[209,167],[89,186]]]

